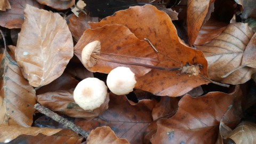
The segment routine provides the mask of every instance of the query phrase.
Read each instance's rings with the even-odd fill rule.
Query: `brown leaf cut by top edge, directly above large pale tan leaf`
[[[71,6],[73,6],[74,3],[75,3],[75,0],[67,0],[67,1],[61,1],[61,0],[36,0],[36,1],[38,3],[50,6],[53,9],[57,9],[57,10],[67,10]]]

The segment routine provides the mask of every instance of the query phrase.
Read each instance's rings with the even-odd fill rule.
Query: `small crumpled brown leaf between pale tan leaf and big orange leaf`
[[[98,22],[99,20],[98,17],[90,17],[89,15],[80,13],[78,18],[75,14],[73,14],[68,21],[68,28],[71,31],[71,34],[74,37],[75,41],[77,42],[79,38],[83,35],[84,31],[90,28],[87,22]]]

